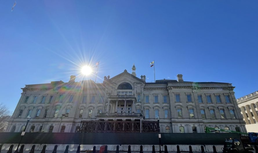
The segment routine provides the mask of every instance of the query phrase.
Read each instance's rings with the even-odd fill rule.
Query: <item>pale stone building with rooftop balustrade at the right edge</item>
[[[237,99],[237,104],[248,132],[258,133],[258,91]]]

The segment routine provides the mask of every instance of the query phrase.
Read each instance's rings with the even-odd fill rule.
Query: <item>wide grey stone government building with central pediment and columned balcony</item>
[[[103,83],[53,81],[26,85],[6,132],[204,133],[205,127],[246,132],[230,83],[146,82],[127,70]],[[219,131],[217,131],[219,132]]]

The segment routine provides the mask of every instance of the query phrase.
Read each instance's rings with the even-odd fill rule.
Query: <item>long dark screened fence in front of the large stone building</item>
[[[0,143],[19,143],[20,138],[21,133],[0,133]],[[237,133],[161,133],[161,144],[221,145],[228,138],[240,139]],[[21,143],[158,145],[159,139],[157,133],[25,133]]]

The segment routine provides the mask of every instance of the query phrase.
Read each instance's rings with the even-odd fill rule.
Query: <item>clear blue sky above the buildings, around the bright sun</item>
[[[0,102],[10,111],[26,84],[80,81],[81,66],[98,61],[99,82],[133,63],[154,81],[155,60],[156,80],[232,83],[236,98],[258,90],[257,0],[16,3],[0,2]]]

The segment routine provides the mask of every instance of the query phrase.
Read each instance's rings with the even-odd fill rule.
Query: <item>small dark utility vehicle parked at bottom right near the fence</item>
[[[249,137],[241,136],[240,138],[241,139],[226,139],[224,148],[221,148],[223,153],[252,153],[250,150],[254,150],[254,148],[249,144]]]

